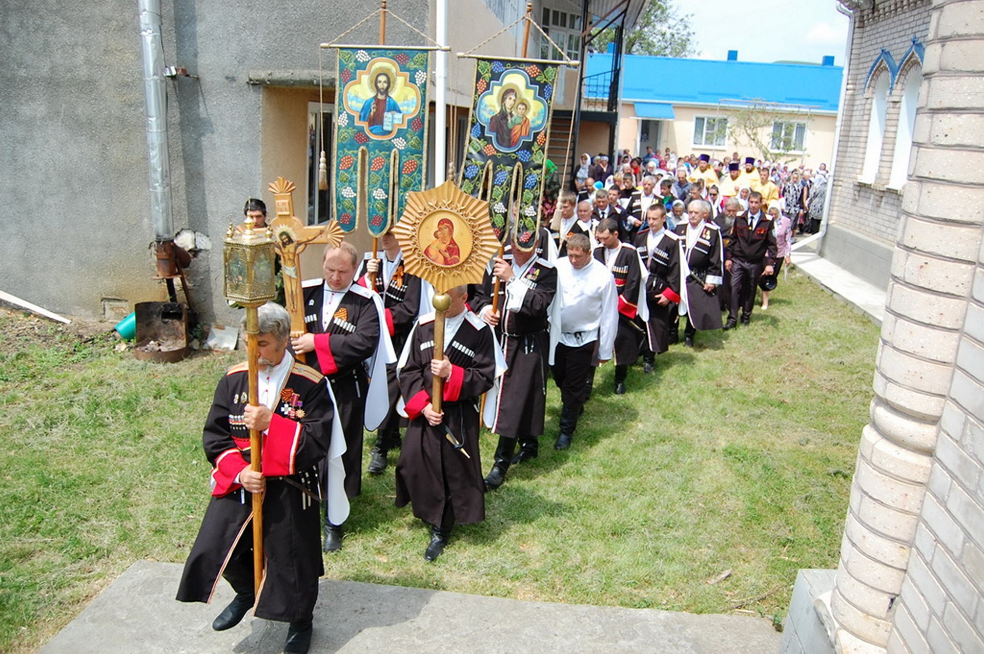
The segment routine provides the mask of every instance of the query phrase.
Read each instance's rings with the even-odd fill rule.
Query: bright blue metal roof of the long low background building
[[[610,71],[611,58],[591,54],[585,76]],[[842,73],[841,66],[630,54],[622,58],[622,100],[716,105],[721,99],[760,99],[836,112]]]

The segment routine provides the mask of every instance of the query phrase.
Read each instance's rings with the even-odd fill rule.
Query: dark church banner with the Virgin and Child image
[[[518,244],[536,247],[558,66],[478,59],[461,190],[487,200],[500,242],[515,216]]]

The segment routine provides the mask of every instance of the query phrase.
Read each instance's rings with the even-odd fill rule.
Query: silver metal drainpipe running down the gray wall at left
[[[170,162],[167,156],[167,90],[164,49],[160,40],[160,0],[138,0],[140,38],[144,52],[144,95],[147,102],[147,151],[150,164],[151,220],[159,245],[174,236],[171,214]]]

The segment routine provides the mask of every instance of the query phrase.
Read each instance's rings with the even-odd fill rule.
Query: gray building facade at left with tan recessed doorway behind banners
[[[571,16],[593,19],[617,6],[623,21],[635,20],[644,5],[536,0],[533,17],[549,21],[550,33],[577,52],[582,29],[571,25]],[[446,6],[446,153],[455,161],[474,86],[474,61],[455,53],[481,44],[483,54],[520,56],[522,24],[504,29],[523,16],[526,3],[454,0]],[[273,208],[268,185],[282,176],[296,184],[299,218],[313,224],[329,217],[327,195],[316,190],[317,158],[323,133],[331,151],[336,61],[334,51],[319,44],[378,7],[161,3],[164,60],[174,68],[166,82],[167,186],[174,231],[198,235],[201,250],[188,273],[204,322],[237,320],[221,297],[221,237],[230,221],[241,220],[247,198]],[[425,45],[419,32],[435,34],[435,0],[390,0],[389,10],[389,44]],[[164,299],[149,248],[154,225],[138,4],[38,0],[5,7],[2,20],[0,203],[18,217],[5,222],[0,288],[57,313],[105,313],[117,320],[134,303]],[[378,38],[379,22],[370,20],[344,40],[371,44]],[[549,49],[533,30],[528,56],[541,52]],[[556,106],[570,112],[578,74],[567,75],[573,80],[559,84],[555,95]],[[433,76],[431,87],[433,99]],[[430,114],[432,153],[433,104]],[[368,245],[364,233],[351,240]]]

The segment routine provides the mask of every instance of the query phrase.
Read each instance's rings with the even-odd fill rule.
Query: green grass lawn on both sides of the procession
[[[183,562],[209,500],[201,428],[242,353],[145,363],[12,313],[0,333],[0,651],[28,652],[134,561]],[[878,333],[793,270],[751,327],[640,362],[626,395],[603,367],[563,452],[551,386],[539,458],[436,564],[393,466],[366,475],[327,576],[781,621],[796,571],[836,565]]]

